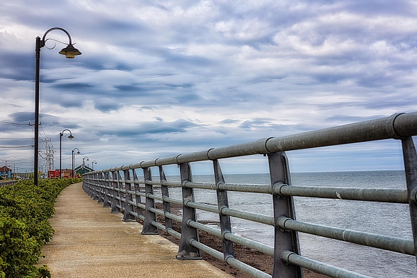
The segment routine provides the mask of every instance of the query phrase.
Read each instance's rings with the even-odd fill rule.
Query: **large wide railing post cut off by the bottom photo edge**
[[[268,154],[272,192],[279,184],[291,186],[290,170],[285,152]],[[272,277],[274,278],[302,278],[302,269],[296,265],[290,265],[281,260],[281,253],[289,250],[300,254],[300,243],[295,231],[283,231],[278,227],[278,218],[284,215],[295,220],[293,197],[272,195],[275,220],[275,254]]]

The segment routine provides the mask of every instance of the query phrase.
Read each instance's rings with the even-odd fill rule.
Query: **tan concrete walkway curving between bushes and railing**
[[[138,222],[122,222],[88,195],[81,183],[60,193],[51,218],[54,239],[44,259],[55,277],[231,277],[206,261],[175,259],[178,246],[162,236],[142,236]]]

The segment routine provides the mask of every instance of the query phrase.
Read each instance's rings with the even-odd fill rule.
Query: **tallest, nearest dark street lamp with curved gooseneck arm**
[[[65,32],[70,39],[70,43],[59,51],[59,54],[65,55],[66,58],[74,58],[76,55],[81,55],[81,52],[72,46],[72,40],[70,33],[68,33],[65,29],[54,27],[50,28],[46,31],[43,35],[42,40],[39,37],[36,37],[36,44],[35,44],[35,53],[36,53],[36,71],[35,71],[35,155],[33,161],[33,183],[35,186],[38,186],[38,149],[39,149],[39,72],[40,72],[40,49],[45,46],[45,38],[47,34],[54,30],[60,30]]]

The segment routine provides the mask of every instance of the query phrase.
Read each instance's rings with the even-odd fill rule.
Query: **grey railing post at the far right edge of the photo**
[[[404,157],[405,177],[407,180],[414,250],[417,251],[417,154],[413,138],[402,139],[402,155]]]

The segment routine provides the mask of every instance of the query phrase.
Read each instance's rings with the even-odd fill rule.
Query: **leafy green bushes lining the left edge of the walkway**
[[[81,179],[19,181],[0,188],[0,278],[51,277],[36,266],[42,246],[54,235],[48,219],[61,190]]]

